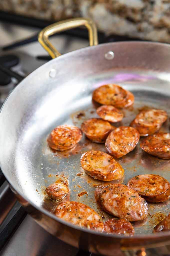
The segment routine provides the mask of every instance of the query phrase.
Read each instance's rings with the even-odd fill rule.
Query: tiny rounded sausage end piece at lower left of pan
[[[46,188],[45,192],[51,199],[54,199],[56,201],[61,201],[62,199],[64,199],[64,197],[68,195],[70,190],[68,186],[66,186],[63,183],[54,183],[54,184],[50,184]]]

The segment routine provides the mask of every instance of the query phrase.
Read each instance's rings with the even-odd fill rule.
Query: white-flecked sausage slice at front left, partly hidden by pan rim
[[[56,207],[54,213],[57,217],[80,227],[103,231],[104,224],[100,216],[89,206],[79,202],[63,202]]]

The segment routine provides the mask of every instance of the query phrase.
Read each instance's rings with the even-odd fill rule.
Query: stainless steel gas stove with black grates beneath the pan
[[[35,40],[39,31],[40,29],[36,27],[0,22],[0,107],[11,90],[24,77],[50,59]],[[24,43],[25,38],[31,39],[26,39],[27,43]],[[19,42],[14,45],[16,41]],[[109,37],[105,41],[114,41],[114,37]],[[62,53],[88,46],[88,39],[77,37],[75,33],[53,36],[51,42]],[[4,47],[8,50],[3,50]],[[90,252],[81,251],[62,242],[42,229],[19,204],[2,172],[0,172],[0,251],[3,256],[52,256],[55,253],[59,256],[94,256]],[[124,252],[123,255],[170,256],[170,246],[155,249],[141,248],[141,250]]]

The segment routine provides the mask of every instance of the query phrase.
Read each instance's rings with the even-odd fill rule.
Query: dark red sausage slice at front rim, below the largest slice
[[[104,222],[104,232],[118,235],[134,235],[134,227],[125,219],[109,219]]]

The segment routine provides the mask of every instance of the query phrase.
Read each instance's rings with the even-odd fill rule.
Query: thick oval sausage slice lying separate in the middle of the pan
[[[114,158],[101,151],[88,151],[81,156],[81,165],[85,172],[99,180],[120,179],[124,169]]]

